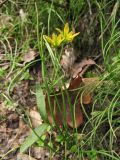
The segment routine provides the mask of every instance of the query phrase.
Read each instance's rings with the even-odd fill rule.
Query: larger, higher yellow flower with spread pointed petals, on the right
[[[64,30],[60,30],[59,28],[56,28],[56,30],[61,34],[61,36],[63,37],[63,39],[67,42],[71,42],[77,35],[80,34],[80,32],[75,33],[73,31],[69,32],[69,25],[68,23],[65,24],[64,26]]]

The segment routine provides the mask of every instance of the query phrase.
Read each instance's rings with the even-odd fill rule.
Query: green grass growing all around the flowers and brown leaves
[[[55,1],[56,3],[63,3]],[[22,20],[19,16],[19,10],[23,9],[26,13],[26,20]],[[48,144],[44,143],[44,147],[50,149],[51,159],[55,154],[61,154],[62,159],[69,159],[68,155],[72,154],[74,159],[97,160],[119,160],[119,155],[114,151],[116,130],[120,127],[120,29],[119,29],[119,1],[83,1],[78,3],[70,0],[69,8],[63,9],[52,3],[43,1],[7,1],[1,8],[4,24],[0,24],[0,50],[5,54],[5,60],[0,63],[8,62],[9,67],[0,69],[0,79],[4,84],[0,84],[1,100],[8,103],[14,103],[11,93],[14,87],[22,80],[30,79],[29,68],[39,62],[41,64],[43,82],[40,84],[43,92],[48,95],[48,103],[51,115],[53,117],[53,125],[50,127],[51,135]],[[91,13],[92,11],[92,13]],[[70,129],[66,125],[66,98],[71,109],[73,123],[75,123],[74,107],[71,104],[70,97],[66,91],[62,95],[64,125],[60,128],[55,122],[54,110],[50,102],[51,95],[55,97],[55,103],[61,107],[55,93],[55,86],[60,88],[65,86],[65,79],[59,65],[62,47],[54,50],[50,44],[43,38],[43,35],[51,35],[55,28],[63,28],[66,22],[79,27],[79,19],[83,20],[85,15],[89,17],[94,15],[97,20],[98,29],[95,30],[95,24],[92,24],[93,30],[87,33],[91,36],[93,31],[97,36],[98,53],[102,55],[102,67],[104,71],[99,73],[100,82],[93,88],[93,104],[91,105],[91,113],[82,105],[82,111],[85,115],[84,125],[80,128]],[[1,19],[2,19],[1,16]],[[0,23],[1,23],[0,19]],[[85,22],[84,22],[85,23]],[[91,25],[90,25],[91,26]],[[77,28],[78,28],[77,27]],[[87,30],[87,28],[86,28]],[[85,33],[81,33],[80,42],[76,42],[79,48],[86,48],[86,39],[82,39]],[[96,33],[97,32],[97,33]],[[76,38],[76,41],[78,39]],[[96,43],[96,41],[94,41]],[[89,45],[89,43],[87,42]],[[94,47],[94,46],[93,46]],[[33,48],[39,52],[40,57],[30,63],[21,65],[21,57],[29,48]],[[88,46],[89,48],[89,46]],[[82,51],[86,52],[86,49]],[[48,70],[47,65],[51,65]],[[51,71],[51,72],[50,72]],[[22,75],[22,78],[21,78]],[[7,77],[7,80],[5,80]],[[82,92],[84,90],[82,89]],[[67,95],[66,97],[64,95]],[[44,97],[43,101],[44,101]],[[38,102],[40,103],[40,102]],[[45,107],[45,104],[43,103]],[[43,109],[43,108],[42,108]],[[45,110],[39,110],[46,119]],[[29,123],[29,120],[27,120]],[[46,121],[46,123],[48,123]],[[53,132],[57,133],[57,138],[52,139]],[[35,135],[36,136],[36,135]],[[39,137],[39,135],[38,135]],[[37,139],[38,140],[38,139]],[[57,145],[55,145],[57,142]]]

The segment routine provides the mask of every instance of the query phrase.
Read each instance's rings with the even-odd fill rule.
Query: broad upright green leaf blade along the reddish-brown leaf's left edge
[[[37,106],[38,106],[39,113],[42,119],[45,122],[48,122],[46,106],[45,106],[45,96],[39,84],[36,85],[36,98],[37,98]]]

